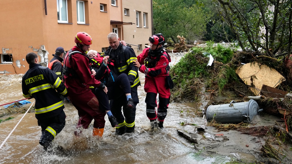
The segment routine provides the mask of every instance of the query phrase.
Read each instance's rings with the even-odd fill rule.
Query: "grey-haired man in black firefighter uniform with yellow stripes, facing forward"
[[[116,133],[122,135],[124,133],[134,132],[136,105],[139,103],[137,94],[137,87],[141,85],[138,68],[134,66],[133,61],[136,59],[134,50],[128,46],[123,46],[120,43],[120,38],[116,33],[108,34],[108,42],[110,46],[105,52],[105,55],[110,56],[108,66],[110,71],[116,71],[118,75],[125,73],[131,85],[131,97],[134,102],[134,108],[127,108],[127,100],[129,97],[114,97],[111,101],[110,110],[115,118],[117,118],[119,125],[116,127]],[[123,107],[123,114],[121,111]]]

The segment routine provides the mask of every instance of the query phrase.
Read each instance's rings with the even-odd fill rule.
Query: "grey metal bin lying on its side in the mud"
[[[218,123],[250,122],[258,112],[258,103],[251,99],[248,102],[210,105],[206,110],[206,118],[207,121],[214,120]]]

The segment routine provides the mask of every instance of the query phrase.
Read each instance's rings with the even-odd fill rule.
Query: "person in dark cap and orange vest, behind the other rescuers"
[[[64,48],[63,47],[58,47],[56,49],[56,53],[53,54],[53,59],[49,62],[49,69],[54,71],[61,79],[62,79],[62,74],[63,74],[63,53],[64,53]]]

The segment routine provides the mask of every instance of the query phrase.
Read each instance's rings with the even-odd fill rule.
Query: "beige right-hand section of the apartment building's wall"
[[[123,39],[126,43],[140,45],[140,50],[137,46],[132,46],[136,55],[142,53],[145,45],[149,45],[149,37],[152,36],[152,0],[123,0],[123,10],[127,10],[126,15],[123,11],[123,22],[132,22],[133,25],[123,25]],[[137,27],[136,12],[139,16],[139,27]],[[146,14],[144,25],[143,13]]]

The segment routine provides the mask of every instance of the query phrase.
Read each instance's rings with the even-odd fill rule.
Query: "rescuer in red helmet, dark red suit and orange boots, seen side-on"
[[[79,121],[75,135],[87,129],[94,119],[93,135],[102,136],[105,125],[104,116],[109,110],[107,88],[94,78],[95,71],[89,65],[89,58],[85,52],[92,44],[92,39],[86,32],[78,32],[75,36],[76,46],[64,58],[64,83],[68,90],[71,103],[78,110]],[[99,91],[96,97],[90,86]]]

